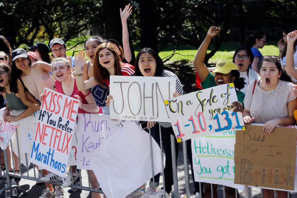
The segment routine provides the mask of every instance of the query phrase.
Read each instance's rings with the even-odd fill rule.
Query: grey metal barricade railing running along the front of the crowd
[[[14,161],[14,157],[13,157],[13,143],[12,140],[10,141],[10,154],[11,154],[11,160],[12,160],[12,164],[13,164],[13,172],[9,172],[9,165],[8,165],[8,156],[7,156],[7,149],[3,150],[3,154],[4,154],[4,163],[5,163],[5,169],[6,171],[4,172],[3,170],[0,171],[0,176],[1,178],[5,177],[6,179],[6,184],[7,187],[4,187],[0,190],[0,195],[2,194],[2,192],[5,192],[6,190],[12,189],[12,188],[17,188],[19,191],[21,191],[24,194],[28,194],[28,192],[26,192],[23,188],[21,188],[19,185],[14,184],[11,185],[10,184],[10,177],[15,177],[15,178],[21,178],[21,179],[26,179],[26,180],[31,180],[31,181],[39,181],[39,182],[43,182],[40,179],[38,179],[38,175],[36,174],[36,169],[35,169],[35,165],[33,164],[33,176],[29,176],[29,164],[28,164],[28,156],[27,153],[25,154],[25,166],[26,166],[26,174],[23,174],[21,171],[21,157],[20,157],[20,147],[19,147],[19,139],[18,139],[18,134],[17,134],[17,130],[15,131],[16,134],[16,141],[17,141],[17,157],[18,157],[18,162],[19,162],[19,170],[20,170],[20,174],[16,174],[15,172],[15,161]],[[159,125],[159,137],[160,137],[160,150],[161,150],[161,165],[162,165],[162,176],[163,176],[163,189],[164,189],[164,197],[166,197],[165,193],[165,182],[166,182],[166,178],[164,175],[164,154],[163,154],[163,140],[162,140],[162,135],[161,135],[161,126]],[[150,152],[151,152],[151,164],[152,164],[152,175],[154,176],[154,162],[153,162],[153,149],[152,149],[152,134],[151,134],[151,130],[149,129],[149,138],[150,138]],[[171,155],[172,155],[172,174],[173,174],[173,189],[174,189],[174,197],[175,198],[179,198],[179,187],[178,187],[178,176],[177,176],[177,158],[176,158],[176,146],[175,146],[175,142],[176,142],[176,138],[174,135],[170,135],[170,145],[171,145]],[[183,141],[181,143],[183,145],[183,165],[184,165],[184,179],[185,179],[185,191],[186,191],[186,197],[191,197],[191,190],[190,190],[190,177],[189,177],[189,169],[188,169],[188,157],[187,157],[187,141]],[[1,163],[1,161],[0,161]],[[71,173],[72,173],[72,169]],[[41,171],[42,174],[42,171]],[[42,175],[41,175],[42,177]],[[87,177],[88,177],[88,186],[83,186],[83,182],[82,182],[82,177],[81,177],[81,170],[79,170],[79,178],[80,178],[80,185],[74,185],[73,184],[73,178],[72,178],[72,185],[70,186],[71,188],[76,188],[79,190],[85,190],[85,191],[89,191],[89,192],[97,192],[97,193],[101,193],[104,194],[102,189],[100,188],[99,183],[97,182],[98,188],[91,188],[91,182],[90,182],[90,175],[89,175],[89,170],[87,170]],[[154,177],[152,177],[153,179],[153,188],[155,189],[155,179]],[[63,182],[47,182],[50,184],[55,184],[58,186],[61,186],[63,184]],[[222,185],[223,188],[223,197],[226,197],[226,193],[225,193],[225,186]],[[213,188],[213,184],[211,184],[211,198],[214,198],[214,191],[216,191],[217,189]],[[252,188],[249,187],[248,188],[248,197],[252,198],[253,196],[251,196],[251,190]],[[260,197],[263,198],[263,191],[262,189],[260,189]],[[203,192],[203,183],[199,182],[199,192],[200,195]],[[235,190],[235,197],[238,197],[238,190]],[[276,190],[274,190],[274,198],[276,198]],[[287,192],[287,198],[290,198],[290,193]]]

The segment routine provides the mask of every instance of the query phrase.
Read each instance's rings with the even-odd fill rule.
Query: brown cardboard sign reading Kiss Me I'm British
[[[236,133],[235,184],[294,190],[296,129],[246,125]]]

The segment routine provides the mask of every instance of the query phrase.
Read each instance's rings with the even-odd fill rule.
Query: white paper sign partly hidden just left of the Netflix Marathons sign
[[[36,111],[27,118],[19,120],[21,131],[21,152],[30,153],[32,151],[33,141],[36,133],[39,112]]]

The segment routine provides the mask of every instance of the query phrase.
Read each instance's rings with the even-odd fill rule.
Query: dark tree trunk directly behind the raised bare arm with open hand
[[[125,8],[126,2],[123,0],[103,0],[103,10],[105,15],[105,30],[106,30],[106,39],[114,39],[123,46],[122,42],[122,22],[120,17],[120,8],[122,10]],[[129,23],[128,23],[129,30]],[[129,34],[129,45],[132,54],[131,63],[135,60],[133,42]]]

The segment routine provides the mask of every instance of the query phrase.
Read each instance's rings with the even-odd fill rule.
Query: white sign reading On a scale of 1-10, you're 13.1
[[[244,128],[242,114],[233,112],[237,101],[233,83],[165,100],[177,142]]]

